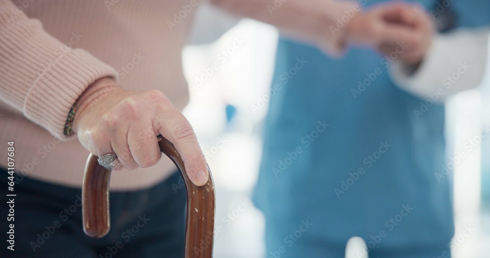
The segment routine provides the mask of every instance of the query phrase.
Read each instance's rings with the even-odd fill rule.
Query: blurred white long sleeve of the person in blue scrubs
[[[435,36],[428,54],[413,71],[395,60],[390,75],[401,89],[421,98],[438,94],[438,101],[481,83],[488,56],[490,28],[461,28]]]

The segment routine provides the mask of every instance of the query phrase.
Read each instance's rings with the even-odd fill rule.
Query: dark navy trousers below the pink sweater
[[[83,232],[81,189],[25,177],[10,192],[8,174],[0,172],[1,258],[184,257],[186,192],[175,188],[178,172],[149,189],[111,192],[111,229],[99,239]],[[14,221],[7,220],[9,198]],[[11,223],[14,251],[7,248]]]

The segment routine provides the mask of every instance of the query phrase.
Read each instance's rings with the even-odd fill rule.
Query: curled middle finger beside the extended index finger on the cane
[[[157,164],[162,157],[158,139],[156,138],[153,128],[150,126],[133,126],[127,133],[127,142],[129,150],[134,160],[140,167],[150,167]],[[148,128],[150,128],[148,132]]]

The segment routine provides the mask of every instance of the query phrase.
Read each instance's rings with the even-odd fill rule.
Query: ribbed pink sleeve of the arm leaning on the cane
[[[78,96],[112,67],[82,49],[72,49],[29,19],[10,0],[0,0],[0,100],[23,112],[61,140]]]

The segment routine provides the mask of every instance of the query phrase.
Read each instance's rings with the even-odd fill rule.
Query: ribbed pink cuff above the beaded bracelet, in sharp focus
[[[29,90],[24,103],[25,117],[61,139],[74,138],[63,134],[73,103],[90,84],[108,76],[117,78],[116,70],[84,50],[72,50]]]

